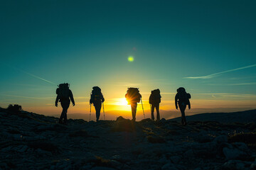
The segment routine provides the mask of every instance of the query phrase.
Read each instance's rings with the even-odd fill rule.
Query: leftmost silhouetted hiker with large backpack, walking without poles
[[[58,101],[60,101],[60,105],[63,108],[63,111],[60,115],[59,123],[63,123],[64,119],[64,124],[67,124],[67,113],[68,113],[68,108],[70,106],[70,100],[73,103],[73,106],[75,106],[75,101],[73,98],[72,91],[69,89],[69,84],[60,84],[58,85],[58,89],[56,89],[56,100],[55,100],[55,106],[58,107]]]

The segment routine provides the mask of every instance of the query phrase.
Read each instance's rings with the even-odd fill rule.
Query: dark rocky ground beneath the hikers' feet
[[[255,122],[57,122],[1,109],[0,169],[256,169]]]

